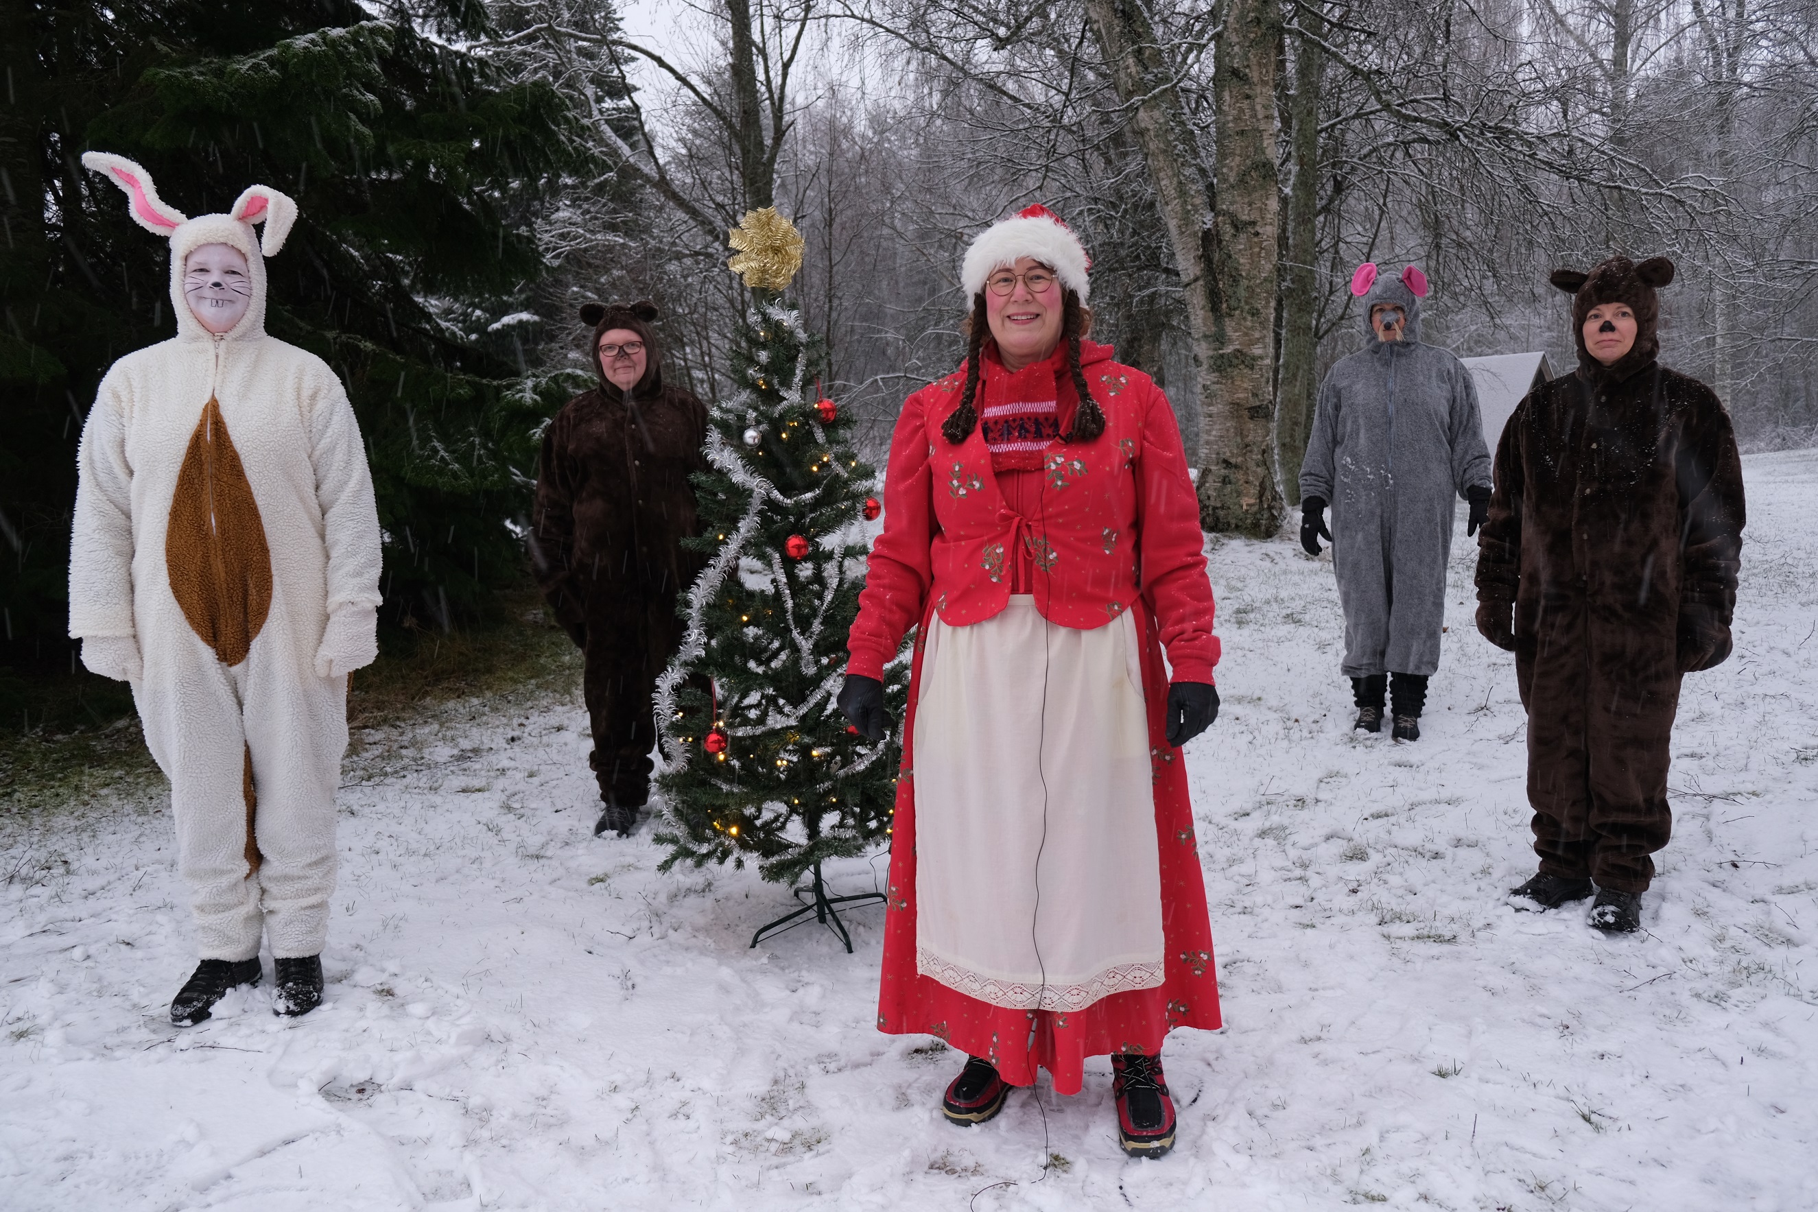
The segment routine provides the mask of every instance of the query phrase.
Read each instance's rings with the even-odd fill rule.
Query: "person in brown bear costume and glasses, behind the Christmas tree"
[[[605,810],[594,836],[633,830],[651,792],[656,676],[682,641],[676,594],[700,574],[689,474],[707,469],[707,409],[664,385],[656,305],[587,303],[600,385],[544,432],[531,556],[544,600],[585,654],[589,765]]]

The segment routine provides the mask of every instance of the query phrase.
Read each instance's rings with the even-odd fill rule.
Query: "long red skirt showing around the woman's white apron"
[[[884,976],[878,988],[878,1030],[925,1034],[998,1067],[1011,1085],[1033,1085],[1040,1065],[1058,1094],[1078,1094],[1085,1058],[1113,1052],[1154,1056],[1174,1027],[1216,1030],[1218,976],[1213,970],[1213,927],[1193,836],[1193,803],[1180,750],[1165,730],[1167,667],[1147,603],[1133,607],[1145,636],[1144,700],[1149,707],[1149,752],[1154,767],[1154,827],[1162,856],[1162,938],[1165,979],[1156,988],[1111,994],[1084,1010],[1018,1010],[994,1007],[947,988],[916,970],[914,907],[914,710],[922,685],[922,636],[916,631],[904,720],[904,765],[896,783],[891,832],[889,912],[884,921]]]

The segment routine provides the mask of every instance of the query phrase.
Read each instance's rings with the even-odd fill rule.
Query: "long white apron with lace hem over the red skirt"
[[[929,621],[914,723],[916,970],[998,1007],[1076,1012],[1162,983],[1142,647],[1031,594]]]

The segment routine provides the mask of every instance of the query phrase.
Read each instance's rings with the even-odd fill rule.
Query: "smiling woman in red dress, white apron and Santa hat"
[[[1218,640],[1174,414],[1085,340],[1089,265],[1045,207],[967,249],[971,347],[896,422],[840,707],[884,738],[916,627],[878,1028],[967,1052],[960,1125],[1109,1054],[1124,1150],[1158,1157],[1162,1039],[1220,1025],[1180,763]]]

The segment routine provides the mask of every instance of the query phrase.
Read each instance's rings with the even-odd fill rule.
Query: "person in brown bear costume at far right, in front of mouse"
[[[1656,362],[1673,262],[1560,269],[1578,369],[1516,407],[1478,538],[1478,631],[1514,652],[1540,874],[1520,909],[1591,896],[1591,925],[1638,930],[1667,845],[1680,676],[1731,651],[1742,462],[1729,414]]]

